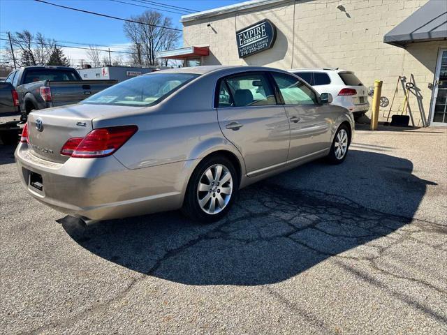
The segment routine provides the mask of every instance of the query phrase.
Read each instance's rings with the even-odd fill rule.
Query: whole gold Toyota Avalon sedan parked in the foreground
[[[34,198],[86,223],[174,209],[216,221],[244,186],[344,161],[353,117],[331,101],[274,68],[162,70],[31,112],[15,158]]]

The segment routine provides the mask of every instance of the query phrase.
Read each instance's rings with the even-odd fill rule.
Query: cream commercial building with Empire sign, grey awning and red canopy
[[[181,22],[184,47],[161,57],[185,66],[353,70],[367,87],[383,81],[381,121],[392,107],[416,126],[447,126],[445,0],[252,0]]]

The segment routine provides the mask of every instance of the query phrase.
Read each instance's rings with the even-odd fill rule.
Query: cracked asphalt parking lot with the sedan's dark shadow
[[[447,130],[358,131],[224,221],[40,204],[0,146],[3,334],[447,334]]]

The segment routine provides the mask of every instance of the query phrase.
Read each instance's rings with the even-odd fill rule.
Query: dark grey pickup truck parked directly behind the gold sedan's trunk
[[[117,80],[82,80],[78,71],[65,66],[27,66],[6,77],[17,91],[22,119],[31,110],[79,103]]]

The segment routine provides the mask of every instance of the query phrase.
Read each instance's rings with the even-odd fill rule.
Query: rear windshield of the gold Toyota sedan
[[[151,106],[198,77],[191,73],[154,73],[120,82],[85,99],[98,105]]]

